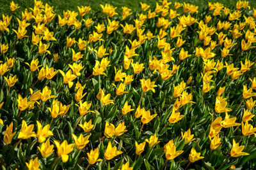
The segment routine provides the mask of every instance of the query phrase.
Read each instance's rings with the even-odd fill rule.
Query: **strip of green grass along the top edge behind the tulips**
[[[25,8],[33,8],[34,1],[33,0],[13,0],[15,3],[18,3],[20,6],[20,10],[24,10]],[[10,3],[11,0],[0,0],[0,11],[1,14],[8,14],[10,13]],[[48,3],[51,6],[54,6],[54,10],[56,13],[63,13],[63,10],[77,10],[77,6],[88,6],[92,7],[93,11],[101,10],[99,4],[112,4],[113,6],[117,7],[117,11],[121,13],[122,6],[127,6],[131,8],[132,11],[136,11],[140,9],[140,2],[147,3],[152,6],[156,5],[156,0],[42,0],[42,2]],[[168,0],[168,2],[174,3],[174,0]],[[209,0],[184,0],[178,1],[180,3],[186,2],[191,3],[199,6],[199,10],[203,10],[205,6],[207,6],[208,2],[216,2],[216,1],[209,1]],[[236,6],[236,0],[218,0],[218,2],[224,4],[228,8],[234,8]],[[256,6],[256,0],[249,0],[249,5],[251,7]],[[19,10],[19,11],[20,11]],[[21,13],[21,12],[20,12]]]

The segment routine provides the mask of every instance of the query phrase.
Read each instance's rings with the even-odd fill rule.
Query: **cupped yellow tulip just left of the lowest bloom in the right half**
[[[183,150],[176,151],[176,146],[173,143],[173,139],[170,140],[166,145],[164,145],[165,157],[167,160],[175,159],[175,157],[179,156],[183,153]]]

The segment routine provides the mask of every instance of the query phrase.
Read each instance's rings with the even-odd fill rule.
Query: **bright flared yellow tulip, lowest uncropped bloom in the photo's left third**
[[[68,145],[67,140],[63,141],[63,143],[61,143],[61,144],[58,141],[54,140],[54,143],[58,150],[58,152],[57,152],[58,156],[61,157],[62,162],[64,162],[64,163],[67,162],[68,161],[68,153],[73,151],[75,144],[72,143],[72,144]]]

